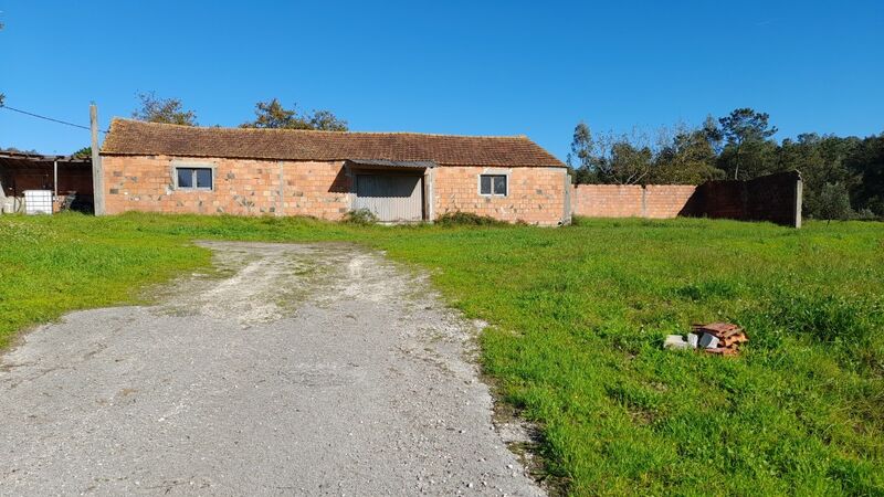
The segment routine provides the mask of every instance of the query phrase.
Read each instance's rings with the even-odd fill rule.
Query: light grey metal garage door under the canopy
[[[368,209],[381,222],[421,221],[422,179],[420,176],[356,175],[354,209]]]

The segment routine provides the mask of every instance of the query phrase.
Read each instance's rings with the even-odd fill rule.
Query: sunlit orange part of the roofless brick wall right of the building
[[[691,184],[576,184],[575,215],[587,218],[675,218],[696,187]]]

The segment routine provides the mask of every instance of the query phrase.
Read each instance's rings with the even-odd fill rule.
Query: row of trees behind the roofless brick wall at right
[[[774,139],[776,133],[770,116],[751,108],[653,134],[593,133],[581,121],[567,161],[575,183],[699,184],[797,169],[804,182],[804,215],[884,218],[884,133],[866,138],[808,133],[782,142]]]

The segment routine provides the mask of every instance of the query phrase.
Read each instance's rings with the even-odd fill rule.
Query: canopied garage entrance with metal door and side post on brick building
[[[431,160],[350,159],[352,209],[371,211],[385,223],[433,219]]]

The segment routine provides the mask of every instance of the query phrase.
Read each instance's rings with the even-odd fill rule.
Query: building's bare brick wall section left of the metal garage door
[[[175,167],[211,167],[209,190],[175,188]],[[104,156],[105,210],[313,215],[340,219],[351,205],[343,161],[275,161],[169,156]]]

